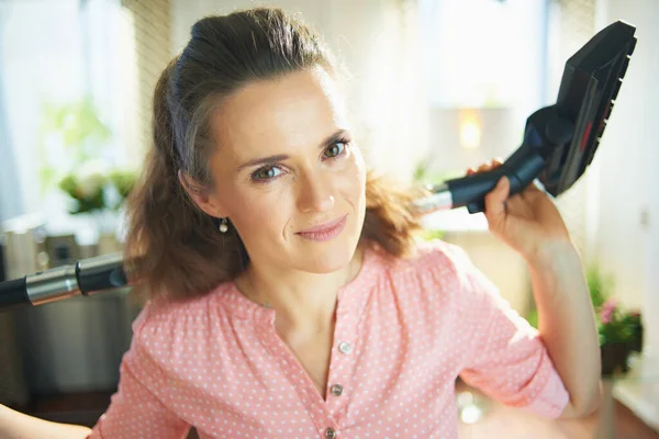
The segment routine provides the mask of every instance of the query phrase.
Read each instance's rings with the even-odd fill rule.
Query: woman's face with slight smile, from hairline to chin
[[[228,217],[253,263],[345,267],[364,224],[366,171],[333,77],[317,67],[253,82],[211,124],[219,148],[209,205]],[[305,233],[317,227],[325,230]]]

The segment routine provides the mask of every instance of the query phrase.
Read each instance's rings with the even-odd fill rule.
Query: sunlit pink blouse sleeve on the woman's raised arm
[[[557,418],[569,394],[539,333],[515,312],[498,288],[453,248],[460,307],[472,349],[460,376],[502,404]]]

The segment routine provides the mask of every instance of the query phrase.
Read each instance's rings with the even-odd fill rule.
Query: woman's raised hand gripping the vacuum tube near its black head
[[[501,166],[494,159],[469,169],[467,175],[488,171]],[[503,177],[485,195],[485,217],[490,232],[517,250],[527,261],[534,261],[545,248],[569,243],[570,235],[554,201],[545,192],[529,184],[509,199],[510,181]]]

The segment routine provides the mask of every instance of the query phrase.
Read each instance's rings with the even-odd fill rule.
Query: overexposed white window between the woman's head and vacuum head
[[[540,106],[546,99],[546,0],[420,3],[435,106]]]

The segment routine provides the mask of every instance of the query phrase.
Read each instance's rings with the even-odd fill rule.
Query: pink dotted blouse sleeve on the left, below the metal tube
[[[119,389],[87,439],[181,439],[188,435],[190,426],[164,404],[166,374],[142,346],[146,314],[145,307],[133,323],[131,347],[120,367]]]

